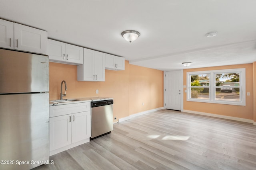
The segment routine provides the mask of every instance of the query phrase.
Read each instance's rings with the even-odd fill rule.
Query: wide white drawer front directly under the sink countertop
[[[91,102],[50,106],[49,117],[79,113],[82,111],[90,111],[90,110],[91,110]]]

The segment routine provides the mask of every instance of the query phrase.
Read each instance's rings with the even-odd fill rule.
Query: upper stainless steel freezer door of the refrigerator
[[[48,91],[48,56],[0,49],[0,93]]]

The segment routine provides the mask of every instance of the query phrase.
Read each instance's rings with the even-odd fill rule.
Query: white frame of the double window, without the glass
[[[215,75],[216,74],[225,74],[225,73],[238,73],[239,72],[239,92],[240,92],[240,101],[229,101],[229,100],[216,100],[216,87],[221,88],[221,86],[216,86]],[[200,74],[210,74],[209,86],[209,99],[197,99],[191,98],[191,88],[202,88],[204,86],[191,86],[191,75],[200,75]],[[194,71],[187,72],[187,97],[186,100],[189,102],[204,102],[204,103],[214,103],[214,104],[229,104],[229,105],[238,105],[246,106],[246,69],[245,68],[234,68],[234,69],[223,69],[223,70],[206,70],[206,71]],[[232,88],[238,88],[238,86],[231,86]]]

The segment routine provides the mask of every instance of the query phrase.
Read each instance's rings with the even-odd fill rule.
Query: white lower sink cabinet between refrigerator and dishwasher
[[[83,104],[86,108],[82,106]],[[90,102],[50,106],[50,115],[58,115],[49,118],[50,156],[90,141],[91,112],[89,108]],[[65,115],[60,115],[58,112],[63,110]],[[84,111],[80,112],[81,110]],[[72,114],[66,114],[68,112]]]

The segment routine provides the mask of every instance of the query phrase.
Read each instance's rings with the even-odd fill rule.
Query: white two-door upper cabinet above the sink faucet
[[[47,55],[49,60],[57,63],[83,64],[83,47],[48,39]]]

